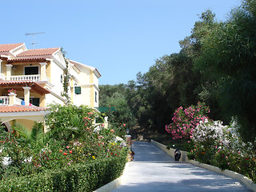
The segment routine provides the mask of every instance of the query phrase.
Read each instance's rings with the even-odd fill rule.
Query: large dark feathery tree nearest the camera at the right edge
[[[256,15],[255,0],[244,0],[226,22],[202,39],[196,69],[210,82],[222,117],[238,118],[246,140],[256,137]]]

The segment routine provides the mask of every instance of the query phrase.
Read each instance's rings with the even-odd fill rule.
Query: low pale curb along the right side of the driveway
[[[160,142],[156,142],[154,140],[151,140],[151,143],[154,146],[157,146],[158,148],[160,148],[161,150],[165,151],[166,154],[170,155],[172,158],[174,158],[174,149],[170,148],[170,150],[166,149],[166,146],[163,145]],[[201,163],[201,162],[197,162],[194,160],[189,160],[186,156],[186,151],[182,151],[182,161],[184,162],[189,162],[190,164],[193,164],[194,166],[200,166],[202,168],[205,168],[206,170],[212,170],[218,174],[224,174],[230,178],[236,178],[238,179],[240,182],[242,182],[245,186],[247,186],[250,190],[253,190],[254,192],[256,192],[256,183],[254,183],[252,180],[250,180],[250,178],[247,178],[246,176],[244,176],[243,174],[238,174],[232,170],[221,170],[216,166],[210,166],[208,164],[205,163]]]

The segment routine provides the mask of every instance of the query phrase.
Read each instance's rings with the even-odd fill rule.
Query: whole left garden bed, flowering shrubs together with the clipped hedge
[[[1,130],[1,191],[91,191],[121,174],[128,149],[114,130],[95,127],[100,114],[58,104],[50,111],[46,134],[38,122],[31,131],[16,122]]]

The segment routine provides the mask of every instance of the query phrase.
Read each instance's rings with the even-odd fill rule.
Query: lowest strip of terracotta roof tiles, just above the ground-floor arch
[[[14,112],[32,112],[32,111],[46,111],[48,108],[38,107],[38,106],[1,106],[0,113],[14,113]]]

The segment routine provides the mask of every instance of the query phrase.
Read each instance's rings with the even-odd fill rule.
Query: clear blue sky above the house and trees
[[[178,53],[198,14],[225,21],[240,0],[0,0],[0,44],[63,47],[67,58],[96,67],[101,85],[127,83],[155,59]]]

